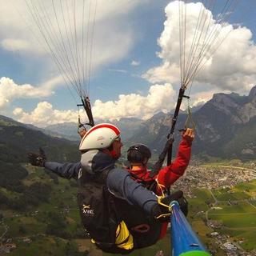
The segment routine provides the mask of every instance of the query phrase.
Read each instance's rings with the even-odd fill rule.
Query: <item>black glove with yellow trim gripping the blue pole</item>
[[[170,210],[169,205],[172,201],[181,201],[183,198],[183,192],[182,190],[178,190],[174,192],[173,194],[170,194],[166,198],[160,199],[160,202],[158,202],[158,205],[154,206],[152,210],[152,216],[156,219],[158,219],[160,222],[168,222],[170,221]],[[185,198],[184,198],[185,199]],[[185,199],[186,200],[186,199]],[[182,202],[182,201],[181,201]],[[163,206],[166,205],[166,206]],[[187,204],[186,204],[186,213],[187,213]],[[164,216],[161,216],[165,214]]]

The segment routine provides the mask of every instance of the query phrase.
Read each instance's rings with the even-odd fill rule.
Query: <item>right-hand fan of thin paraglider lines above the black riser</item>
[[[180,80],[186,89],[232,30],[238,0],[175,1],[179,17]],[[190,17],[190,19],[188,18]]]

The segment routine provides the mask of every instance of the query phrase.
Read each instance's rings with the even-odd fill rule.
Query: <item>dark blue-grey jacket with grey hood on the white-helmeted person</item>
[[[92,173],[110,170],[106,180],[110,193],[117,198],[125,199],[131,205],[138,206],[146,214],[150,215],[154,206],[158,205],[157,196],[153,192],[146,190],[142,184],[134,182],[126,170],[116,168],[115,162],[116,160],[108,154],[98,150],[90,150],[82,154],[81,162],[64,164],[46,162],[45,167],[62,178],[74,178],[77,180],[79,178],[79,170],[82,167],[86,167]]]

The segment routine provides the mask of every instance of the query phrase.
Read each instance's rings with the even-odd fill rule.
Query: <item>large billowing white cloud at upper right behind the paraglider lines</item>
[[[186,8],[186,43],[190,46],[194,36],[194,28],[198,21],[198,10],[202,3],[188,3]],[[143,74],[143,78],[150,82],[180,82],[179,71],[179,26],[178,2],[170,2],[166,6],[166,21],[158,45],[161,51],[158,57],[162,58],[161,66],[154,66]],[[210,17],[210,26],[215,21],[209,10],[205,10]],[[229,33],[230,31],[230,33]],[[234,28],[226,23],[221,37],[228,34],[215,54],[206,62],[202,71],[196,77],[196,82],[209,84],[218,90],[235,90],[238,93],[248,91],[256,79],[256,46],[252,41],[252,34],[246,27]],[[189,56],[186,52],[186,56]],[[206,90],[206,89],[205,89]]]

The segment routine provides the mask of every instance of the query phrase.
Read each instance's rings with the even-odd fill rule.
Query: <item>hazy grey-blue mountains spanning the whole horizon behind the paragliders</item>
[[[173,110],[170,113],[173,113]],[[159,112],[145,121],[138,118],[121,118],[119,121],[98,120],[96,123],[111,122],[118,126],[126,146],[134,142],[142,142],[159,153],[170,131],[172,117],[170,113]],[[183,128],[185,120],[186,114],[181,111],[177,129]],[[210,101],[193,109],[193,120],[197,133],[193,146],[194,155],[201,158],[207,156],[245,160],[256,158],[256,86],[247,96],[236,93],[214,94]],[[51,137],[67,138],[75,143],[79,141],[77,123],[74,122],[47,126],[45,129],[22,124],[4,116],[0,116],[0,122],[41,131]],[[174,154],[180,138],[176,130]]]

